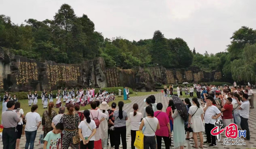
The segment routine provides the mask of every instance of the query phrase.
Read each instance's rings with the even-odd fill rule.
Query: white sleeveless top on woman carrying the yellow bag
[[[143,118],[143,121],[144,121],[144,126],[145,126],[144,135],[145,136],[155,136],[157,124],[159,123],[158,119],[156,117],[153,117],[153,118],[145,117],[145,118]]]

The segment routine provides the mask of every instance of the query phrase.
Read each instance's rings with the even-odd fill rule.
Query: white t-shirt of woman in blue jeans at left
[[[25,131],[36,131],[37,123],[41,121],[41,117],[36,112],[28,112],[25,117],[26,126]]]

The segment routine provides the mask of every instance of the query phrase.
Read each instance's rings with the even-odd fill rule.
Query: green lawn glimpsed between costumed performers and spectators
[[[138,95],[135,95],[135,92],[133,92],[133,94],[130,94],[130,97],[151,95],[151,94],[156,94],[156,93],[159,93],[159,92],[137,92],[137,93],[138,93]],[[116,96],[116,99],[113,102],[115,102],[117,104],[119,101],[124,101],[124,96],[123,95],[122,95],[122,97],[117,97]],[[31,111],[31,107],[28,106],[28,100],[19,100],[19,102],[20,102],[20,108],[23,109],[25,114]],[[129,99],[124,101],[124,103],[130,103],[130,102],[131,101]],[[0,103],[1,104],[1,107],[0,107],[0,121],[1,121],[1,118],[2,118],[2,103],[3,102],[1,101],[1,103]],[[42,116],[44,110],[46,110],[46,109],[44,109],[43,104],[40,104],[40,103],[42,103],[42,100],[38,99],[37,113],[40,114],[40,116]],[[112,102],[109,102],[108,105],[111,106],[111,103]],[[88,104],[84,107],[80,106],[80,110],[86,110],[86,109],[91,109],[90,104]],[[59,109],[57,109],[57,108],[56,109],[54,108],[53,110],[55,110],[57,113],[59,112]]]

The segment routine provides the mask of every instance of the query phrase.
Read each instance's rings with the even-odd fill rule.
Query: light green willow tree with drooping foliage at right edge
[[[246,44],[242,58],[231,62],[231,73],[236,81],[256,81],[256,44]]]

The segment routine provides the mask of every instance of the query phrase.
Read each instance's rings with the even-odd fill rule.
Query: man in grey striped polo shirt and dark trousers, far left
[[[16,126],[20,122],[20,113],[12,111],[15,107],[13,100],[6,103],[7,110],[2,113],[3,120],[3,145],[4,149],[15,149],[17,132]]]

